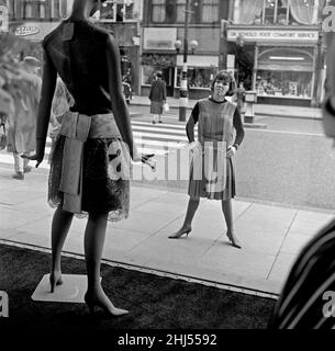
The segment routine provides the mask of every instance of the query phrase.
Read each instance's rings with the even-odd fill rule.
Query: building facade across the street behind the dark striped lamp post
[[[209,95],[210,81],[221,66],[221,20],[227,19],[228,4],[228,1],[220,0],[189,0],[187,65],[190,99]],[[155,71],[161,70],[168,95],[179,97],[186,5],[186,0],[144,0],[142,95],[148,95]]]

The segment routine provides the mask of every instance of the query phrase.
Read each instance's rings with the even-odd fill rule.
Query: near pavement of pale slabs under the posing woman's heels
[[[0,239],[51,247],[54,210],[46,204],[47,171],[24,181],[0,165]],[[217,202],[203,200],[188,238],[169,240],[183,219],[188,195],[163,189],[131,189],[126,220],[109,224],[103,258],[258,292],[278,294],[297,252],[333,214],[235,200],[235,228],[243,249],[227,245]],[[86,219],[75,218],[65,251],[83,253]],[[47,271],[48,268],[46,267]],[[70,273],[66,271],[65,273]]]

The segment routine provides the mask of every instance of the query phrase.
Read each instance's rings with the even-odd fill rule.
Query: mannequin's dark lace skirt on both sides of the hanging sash
[[[59,191],[62,160],[65,136],[58,135],[51,156],[51,171],[48,178],[48,203],[56,207],[63,204],[63,192]],[[111,154],[111,146],[113,152]],[[111,179],[110,167],[112,160],[123,152],[121,143],[114,138],[88,139],[83,148],[82,165],[82,213],[78,217],[86,217],[88,213],[109,213],[109,220],[120,220],[129,216],[130,180]],[[114,171],[116,171],[116,169]],[[112,170],[113,172],[113,170]]]

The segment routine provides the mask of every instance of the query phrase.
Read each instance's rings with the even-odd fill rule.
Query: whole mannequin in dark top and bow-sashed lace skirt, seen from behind
[[[141,159],[134,144],[122,92],[120,54],[114,37],[93,25],[89,16],[103,0],[75,0],[70,16],[43,41],[44,75],[37,116],[36,167],[43,161],[57,73],[75,104],[62,118],[48,181],[48,201],[57,205],[52,224],[51,292],[62,284],[60,256],[74,214],[88,214],[85,257],[88,288],[85,301],[92,312],[109,315],[116,308],[100,283],[100,263],[108,219],[129,215],[130,158]]]

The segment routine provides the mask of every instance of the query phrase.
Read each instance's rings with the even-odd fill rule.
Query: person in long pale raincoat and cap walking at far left
[[[13,76],[9,92],[14,100],[14,113],[9,115],[7,150],[13,152],[14,179],[23,180],[24,173],[32,170],[29,159],[22,159],[21,154],[30,155],[36,148],[36,115],[42,80],[37,75],[41,63],[33,56],[23,60],[23,71]]]

